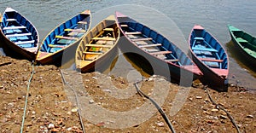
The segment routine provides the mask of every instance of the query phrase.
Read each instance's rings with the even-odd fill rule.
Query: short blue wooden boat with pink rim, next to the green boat
[[[221,43],[202,26],[195,25],[189,35],[189,50],[193,61],[204,74],[202,83],[226,91],[229,58]]]

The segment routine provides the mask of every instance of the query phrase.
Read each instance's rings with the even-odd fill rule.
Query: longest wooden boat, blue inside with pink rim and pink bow
[[[141,64],[149,62],[149,70],[153,69],[154,74],[173,82],[191,85],[193,80],[201,77],[200,69],[189,56],[160,33],[125,14],[116,12],[116,18],[124,35],[119,41],[123,53],[136,55]]]

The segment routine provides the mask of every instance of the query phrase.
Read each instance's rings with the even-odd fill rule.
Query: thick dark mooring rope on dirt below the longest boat
[[[139,81],[139,82],[141,82],[141,81]],[[146,97],[149,101],[151,101],[151,102],[154,104],[154,106],[157,108],[157,110],[161,113],[162,117],[165,119],[166,124],[168,124],[169,129],[172,130],[172,133],[175,133],[175,130],[174,130],[174,128],[172,127],[172,123],[171,123],[171,121],[168,119],[168,117],[167,117],[166,113],[164,112],[164,110],[157,104],[156,101],[154,101],[154,100],[153,100],[151,97],[149,97],[148,95],[144,94],[143,91],[139,89],[139,87],[137,86],[137,84],[138,84],[139,82],[136,82],[136,83],[134,84],[135,87],[136,87],[136,90],[137,90],[138,94],[143,95],[144,97]]]

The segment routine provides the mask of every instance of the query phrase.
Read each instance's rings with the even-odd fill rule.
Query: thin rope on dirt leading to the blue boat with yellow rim
[[[80,124],[81,124],[82,130],[83,130],[83,133],[85,133],[84,123],[83,123],[83,119],[82,119],[82,115],[81,115],[80,107],[79,107],[78,95],[77,95],[76,91],[73,89],[73,87],[70,86],[70,84],[67,83],[66,79],[64,78],[64,75],[63,75],[62,70],[61,70],[60,68],[59,68],[59,70],[61,71],[61,78],[62,78],[63,83],[66,84],[66,85],[73,91],[73,93],[74,93],[74,95],[75,95],[76,104],[77,104],[77,107],[78,107],[78,113],[79,113]]]

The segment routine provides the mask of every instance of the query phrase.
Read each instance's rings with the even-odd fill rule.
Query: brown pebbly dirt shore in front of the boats
[[[26,95],[24,132],[83,132],[82,125],[86,132],[172,132],[161,113],[125,78],[98,72],[62,73],[66,85],[61,70],[55,66],[35,66],[32,75],[31,62],[0,56],[0,132],[20,131]],[[31,75],[29,93],[26,94]],[[108,84],[109,81],[112,84]],[[168,90],[154,91],[154,84],[160,89],[168,86]],[[119,91],[113,90],[111,85]],[[143,80],[140,85],[145,94],[161,104],[176,132],[236,132],[228,115],[212,104],[200,83],[189,89],[153,77]],[[131,90],[125,89],[129,87]],[[236,84],[230,84],[228,92],[208,90],[212,99],[230,113],[241,132],[256,131],[255,93]],[[125,91],[124,97],[118,97],[122,91]],[[178,93],[182,95],[176,97]],[[143,108],[145,104],[148,106]],[[96,106],[109,112],[95,109]],[[133,110],[138,112],[130,112]]]

